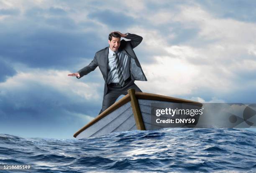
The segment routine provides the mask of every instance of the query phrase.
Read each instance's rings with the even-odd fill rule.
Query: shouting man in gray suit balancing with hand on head
[[[120,40],[121,37],[129,41]],[[122,34],[114,31],[109,34],[106,47],[95,53],[92,62],[77,73],[68,74],[78,79],[99,67],[105,80],[104,96],[100,113],[110,107],[120,95],[126,95],[128,89],[142,92],[134,80],[147,81],[133,48],[139,45],[142,37],[135,34]],[[100,114],[99,113],[99,114]]]

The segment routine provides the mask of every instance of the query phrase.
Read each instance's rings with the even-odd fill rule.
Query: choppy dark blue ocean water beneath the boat
[[[0,173],[255,173],[256,132],[170,128],[84,140],[1,134],[0,166]]]

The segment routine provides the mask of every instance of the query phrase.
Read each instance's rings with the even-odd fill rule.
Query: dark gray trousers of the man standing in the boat
[[[142,92],[141,89],[138,88],[138,86],[134,83],[133,80],[125,82],[123,87],[108,85],[108,93],[103,97],[102,108],[100,110],[100,113],[102,113],[104,110],[113,105],[120,95],[128,94],[127,90],[131,88],[135,91]]]

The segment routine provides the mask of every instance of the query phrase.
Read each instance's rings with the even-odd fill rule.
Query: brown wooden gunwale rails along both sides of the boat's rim
[[[191,103],[191,104],[196,104],[200,107],[202,107],[202,103],[192,101],[192,100],[185,100],[181,98],[174,98],[174,97],[169,97],[165,95],[158,95],[158,94],[152,94],[152,93],[142,93],[142,92],[135,92],[136,98],[137,99],[143,99],[143,100],[159,100],[159,101],[169,101],[169,102],[174,102],[174,103]],[[122,105],[125,103],[128,103],[131,101],[131,97],[129,94],[125,95],[123,98],[118,100],[116,103],[111,105],[108,109],[104,110],[100,115],[97,115],[93,120],[91,120],[89,123],[84,125],[81,129],[79,129],[76,133],[74,133],[74,138],[77,137],[80,133],[82,133],[85,129],[89,128],[91,125],[97,123],[99,120],[107,116],[108,114],[112,113],[114,110],[120,108]]]

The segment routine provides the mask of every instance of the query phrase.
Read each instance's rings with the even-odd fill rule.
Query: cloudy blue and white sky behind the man
[[[206,102],[256,102],[253,0],[0,0],[0,133],[72,138],[101,109],[99,68],[67,76],[117,30],[134,50],[147,93]]]

